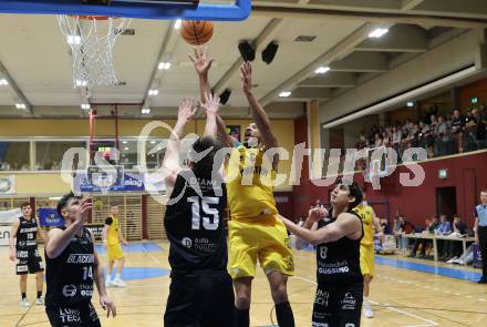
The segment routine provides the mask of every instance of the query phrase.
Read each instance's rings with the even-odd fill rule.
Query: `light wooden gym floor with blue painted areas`
[[[160,247],[162,249],[159,249]],[[162,326],[168,295],[168,244],[133,244],[126,253],[126,288],[108,288],[118,315],[106,319],[93,299],[103,326]],[[43,306],[21,308],[14,264],[8,247],[0,247],[0,326],[49,326]],[[105,254],[100,255],[106,262]],[[297,274],[289,280],[289,297],[297,326],[311,326],[314,299],[314,253],[296,252]],[[402,256],[377,257],[371,299],[375,317],[362,319],[362,326],[487,326],[487,285],[445,277],[474,278],[478,269],[464,268]],[[407,267],[404,267],[407,266]],[[448,268],[449,267],[449,268]],[[414,270],[415,269],[415,270]],[[423,273],[431,270],[431,273]],[[271,326],[276,321],[267,279],[261,270],[253,283],[251,326]],[[128,278],[133,278],[129,279]],[[35,297],[35,277],[29,276],[28,298]]]

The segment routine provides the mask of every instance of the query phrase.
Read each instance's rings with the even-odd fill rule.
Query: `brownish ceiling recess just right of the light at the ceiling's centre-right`
[[[380,52],[353,52],[330,64],[331,71],[383,73],[388,71],[387,59]]]

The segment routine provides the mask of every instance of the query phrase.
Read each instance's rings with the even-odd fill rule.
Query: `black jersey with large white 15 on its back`
[[[225,208],[227,191],[221,180],[195,177],[182,171],[174,185],[164,225],[170,242],[169,264],[172,275],[195,270],[226,270],[227,242],[225,237]],[[186,176],[186,178],[185,178]],[[201,191],[199,196],[197,186]],[[216,192],[219,193],[216,193]]]

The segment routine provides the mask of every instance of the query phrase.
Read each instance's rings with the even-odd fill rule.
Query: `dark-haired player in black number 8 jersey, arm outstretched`
[[[282,217],[297,237],[297,247],[317,246],[317,282],[312,327],[358,327],[363,300],[360,269],[361,217],[352,211],[362,191],[341,182],[330,196],[332,210],[312,208],[302,227]]]

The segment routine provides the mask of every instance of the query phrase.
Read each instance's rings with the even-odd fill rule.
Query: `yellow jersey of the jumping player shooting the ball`
[[[227,196],[232,219],[278,213],[272,186],[276,171],[263,154],[263,149],[240,145],[227,163]]]

